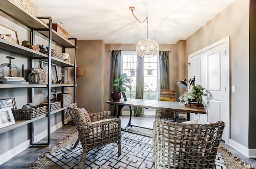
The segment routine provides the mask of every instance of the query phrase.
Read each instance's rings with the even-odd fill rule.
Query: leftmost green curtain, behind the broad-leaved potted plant
[[[121,61],[121,50],[112,50],[112,79],[110,79],[111,84],[113,84],[116,78],[121,76]],[[111,91],[116,91],[113,85],[111,85]],[[117,115],[117,105],[111,105],[111,115]],[[120,115],[122,115],[122,112],[120,112]]]

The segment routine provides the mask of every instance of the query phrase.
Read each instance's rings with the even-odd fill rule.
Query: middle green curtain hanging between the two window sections
[[[144,58],[137,55],[136,99],[144,99]],[[134,107],[134,116],[144,115],[143,107]]]

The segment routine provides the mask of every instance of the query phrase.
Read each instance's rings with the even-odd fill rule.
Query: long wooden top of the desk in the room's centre
[[[128,99],[127,101],[124,101],[124,100],[106,101],[106,103],[113,104],[113,105],[123,105],[123,106],[127,105],[127,106],[134,106],[134,107],[144,107],[144,108],[152,108],[152,109],[206,114],[205,109],[181,106],[178,101],[159,101],[159,100],[131,99],[131,98],[127,98],[127,99]]]

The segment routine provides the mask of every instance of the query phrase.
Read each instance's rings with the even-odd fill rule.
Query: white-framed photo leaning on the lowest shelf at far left
[[[12,124],[15,124],[14,116],[12,114],[12,109],[10,107],[0,109],[0,128],[6,127]]]

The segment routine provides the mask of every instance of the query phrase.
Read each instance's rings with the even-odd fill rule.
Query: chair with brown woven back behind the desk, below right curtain
[[[160,96],[159,100],[161,100],[161,98],[167,98],[167,99],[173,99],[173,101],[176,101],[176,90],[160,89],[159,96]],[[163,99],[163,100],[165,100],[165,99]],[[175,117],[176,117],[175,111],[156,109],[156,119],[176,121]]]

